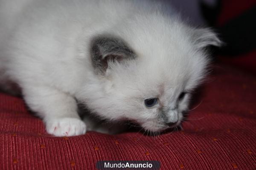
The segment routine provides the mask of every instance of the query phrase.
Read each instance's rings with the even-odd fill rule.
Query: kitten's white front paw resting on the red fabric
[[[86,132],[86,125],[77,118],[59,118],[48,120],[46,130],[54,136],[77,136]]]

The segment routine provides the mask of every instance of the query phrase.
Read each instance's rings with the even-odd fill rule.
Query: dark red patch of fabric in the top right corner
[[[222,26],[228,20],[237,17],[254,5],[256,5],[256,0],[221,0],[221,11],[217,19],[217,26]]]

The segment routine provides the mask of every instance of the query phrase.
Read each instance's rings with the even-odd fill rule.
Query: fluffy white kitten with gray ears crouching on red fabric
[[[0,0],[0,79],[55,136],[88,130],[77,101],[152,132],[180,125],[220,43],[152,1]]]

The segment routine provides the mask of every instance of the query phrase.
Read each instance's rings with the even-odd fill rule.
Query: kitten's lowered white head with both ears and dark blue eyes
[[[93,111],[153,132],[180,125],[191,91],[206,74],[204,48],[220,40],[207,28],[156,34],[92,41],[93,68],[102,85],[102,94],[88,103]]]

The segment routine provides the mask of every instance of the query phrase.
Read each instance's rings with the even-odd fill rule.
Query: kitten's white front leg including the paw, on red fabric
[[[86,132],[77,113],[76,100],[67,93],[47,86],[23,88],[26,103],[44,120],[48,133],[76,136]]]

